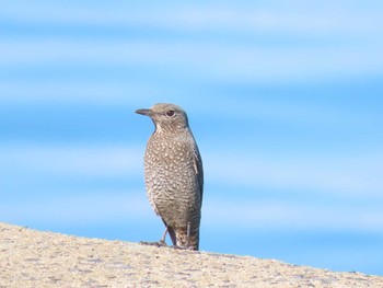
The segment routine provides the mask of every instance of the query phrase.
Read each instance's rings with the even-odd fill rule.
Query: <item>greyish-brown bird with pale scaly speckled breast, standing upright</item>
[[[165,224],[160,241],[141,243],[166,245],[169,233],[174,247],[198,251],[204,169],[187,114],[171,103],[136,113],[149,116],[154,124],[143,158],[144,184],[154,212]]]

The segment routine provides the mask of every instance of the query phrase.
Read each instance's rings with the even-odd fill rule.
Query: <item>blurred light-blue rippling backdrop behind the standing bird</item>
[[[202,251],[383,275],[382,1],[1,1],[0,221],[163,232],[136,108],[184,107]]]

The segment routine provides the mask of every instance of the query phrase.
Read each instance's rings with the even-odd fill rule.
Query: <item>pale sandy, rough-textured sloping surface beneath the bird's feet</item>
[[[383,287],[383,277],[0,223],[0,287]]]

